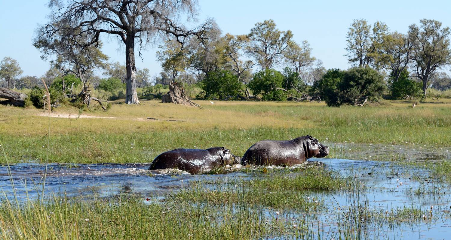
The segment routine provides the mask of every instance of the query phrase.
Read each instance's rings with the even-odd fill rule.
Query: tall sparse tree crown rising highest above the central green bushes
[[[272,19],[255,23],[248,36],[251,40],[249,55],[257,60],[263,70],[279,63],[285,50],[293,45],[293,33],[277,29]]]

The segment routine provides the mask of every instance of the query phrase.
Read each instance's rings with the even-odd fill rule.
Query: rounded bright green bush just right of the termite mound
[[[230,96],[236,98],[242,88],[238,77],[227,70],[209,72],[200,86],[205,92],[205,98],[216,100],[223,100]]]

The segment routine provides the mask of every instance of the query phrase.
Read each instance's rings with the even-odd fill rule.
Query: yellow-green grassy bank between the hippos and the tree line
[[[144,100],[139,106],[114,102],[108,112],[82,112],[80,116],[78,109],[58,108],[55,114],[65,118],[50,119],[50,162],[149,162],[179,147],[224,146],[241,155],[258,140],[306,134],[326,144],[451,145],[449,100],[431,100],[416,108],[404,101],[341,108],[324,103],[198,103],[202,108],[156,100]],[[0,106],[0,138],[12,162],[40,162],[46,156],[49,118],[39,115],[45,115],[44,111]],[[334,157],[333,149],[330,156]]]

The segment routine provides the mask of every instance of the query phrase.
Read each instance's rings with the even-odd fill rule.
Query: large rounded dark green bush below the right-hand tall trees
[[[384,77],[370,67],[350,68],[338,84],[339,104],[357,105],[364,100],[378,100],[386,84]]]

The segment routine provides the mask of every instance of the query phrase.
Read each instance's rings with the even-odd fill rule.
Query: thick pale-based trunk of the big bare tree
[[[127,67],[126,80],[126,104],[139,104],[138,94],[136,93],[136,66],[135,66],[135,39],[133,34],[127,35],[125,42],[125,65]]]

